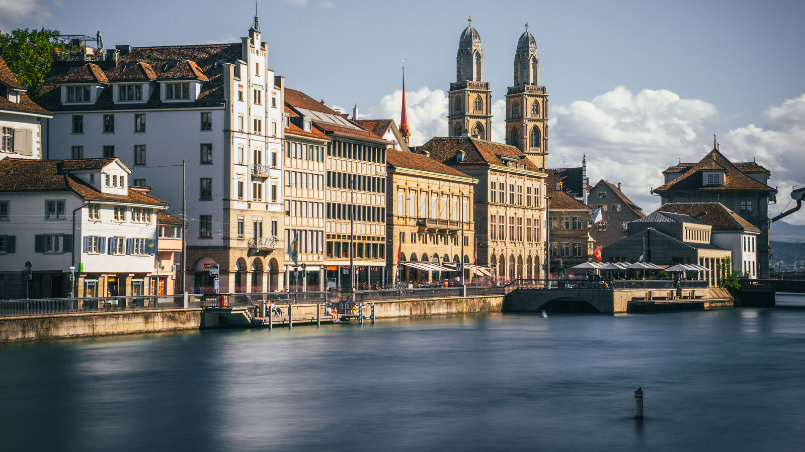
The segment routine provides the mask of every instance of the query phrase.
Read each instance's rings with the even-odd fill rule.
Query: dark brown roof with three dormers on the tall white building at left
[[[45,79],[42,88],[39,89],[39,97],[36,101],[39,105],[50,111],[58,112],[63,110],[82,111],[82,110],[109,110],[109,109],[159,109],[159,108],[209,108],[224,105],[224,69],[222,64],[235,63],[241,58],[242,44],[200,44],[188,46],[157,46],[157,47],[132,47],[127,55],[121,55],[118,63],[101,61],[97,67],[105,72],[105,77],[113,81],[125,81],[125,72],[138,63],[142,65],[147,73],[145,64],[151,67],[154,72],[155,80],[171,80],[168,74],[175,76],[192,75],[192,78],[206,78],[206,82],[201,85],[201,91],[196,101],[171,102],[163,104],[160,101],[159,84],[151,92],[151,98],[142,104],[126,102],[126,104],[114,104],[112,90],[104,89],[94,105],[62,105],[60,97],[60,84],[64,83],[71,67],[69,62],[55,61],[51,66],[51,72]],[[175,66],[174,66],[175,64]],[[176,72],[171,72],[176,68]],[[180,74],[181,72],[181,74]],[[123,78],[121,78],[123,77]],[[172,80],[176,80],[173,78]]]

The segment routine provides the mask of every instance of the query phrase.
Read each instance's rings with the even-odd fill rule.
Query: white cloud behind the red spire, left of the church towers
[[[411,128],[411,145],[419,146],[433,137],[444,137],[448,133],[448,95],[441,89],[423,86],[405,93],[408,125]],[[374,119],[394,119],[399,126],[403,90],[398,89],[383,96],[378,105],[369,107],[366,117]],[[361,115],[363,116],[363,115]]]

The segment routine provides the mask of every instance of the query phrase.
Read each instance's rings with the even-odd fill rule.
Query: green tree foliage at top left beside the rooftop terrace
[[[0,32],[0,55],[6,60],[8,68],[24,87],[28,96],[35,97],[42,86],[53,61],[54,47],[64,44],[53,39],[58,30],[16,29],[10,33]]]

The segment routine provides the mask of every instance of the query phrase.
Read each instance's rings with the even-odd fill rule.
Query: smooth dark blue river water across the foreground
[[[11,344],[0,381],[0,450],[799,451],[805,309]]]

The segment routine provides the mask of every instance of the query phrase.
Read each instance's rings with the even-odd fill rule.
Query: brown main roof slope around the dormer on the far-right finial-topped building
[[[704,185],[702,182],[702,175],[700,171],[703,170],[719,169],[719,171],[726,171],[724,177],[724,185]],[[664,171],[667,172],[667,171]],[[733,165],[719,150],[711,150],[708,152],[700,162],[690,166],[687,171],[678,178],[669,183],[664,184],[662,187],[654,188],[654,191],[662,193],[663,191],[721,191],[721,190],[762,190],[773,191],[774,188],[769,187],[765,183],[760,183],[752,179],[745,172],[738,169]]]

